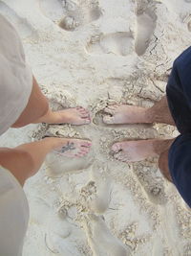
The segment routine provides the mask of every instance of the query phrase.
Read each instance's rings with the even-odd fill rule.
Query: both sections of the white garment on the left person
[[[29,102],[32,71],[21,40],[0,14],[0,135],[11,127]],[[21,256],[29,206],[17,179],[0,166],[0,256]]]

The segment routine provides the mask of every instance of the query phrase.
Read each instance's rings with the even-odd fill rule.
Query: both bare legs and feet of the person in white
[[[12,128],[31,123],[85,125],[90,123],[89,112],[83,107],[74,107],[53,112],[48,100],[33,78],[32,93],[28,105]],[[81,157],[90,151],[91,142],[66,138],[45,138],[39,142],[21,145],[15,149],[0,148],[0,165],[11,171],[21,185],[34,175],[50,151],[58,150],[67,157]],[[60,147],[60,149],[59,149]]]

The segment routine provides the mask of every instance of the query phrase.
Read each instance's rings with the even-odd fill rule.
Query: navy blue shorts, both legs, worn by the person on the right
[[[181,197],[191,207],[191,47],[174,61],[166,95],[180,131],[169,151],[169,170]]]

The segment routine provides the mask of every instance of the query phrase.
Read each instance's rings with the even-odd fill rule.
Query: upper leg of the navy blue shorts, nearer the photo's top
[[[191,132],[191,47],[174,61],[166,95],[180,133]]]

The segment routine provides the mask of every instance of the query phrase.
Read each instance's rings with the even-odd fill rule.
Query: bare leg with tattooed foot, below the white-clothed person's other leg
[[[26,179],[35,175],[50,151],[67,157],[82,157],[90,151],[88,140],[45,138],[14,149],[0,148],[0,165],[11,171],[23,186]]]

